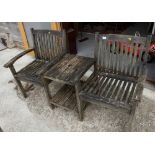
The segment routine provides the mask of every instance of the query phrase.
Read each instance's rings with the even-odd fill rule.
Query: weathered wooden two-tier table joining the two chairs
[[[82,120],[84,106],[79,98],[80,79],[93,64],[93,58],[66,54],[44,74],[44,88],[52,108],[59,106],[64,109],[77,110],[79,119]],[[53,97],[48,87],[51,81],[64,83],[64,86]]]

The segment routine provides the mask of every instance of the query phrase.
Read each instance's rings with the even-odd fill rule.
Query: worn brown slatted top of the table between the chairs
[[[45,73],[44,78],[74,85],[93,63],[93,58],[66,54],[56,65]]]

